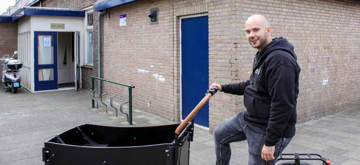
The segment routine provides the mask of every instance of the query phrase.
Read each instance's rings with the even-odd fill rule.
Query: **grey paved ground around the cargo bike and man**
[[[74,126],[84,123],[128,126],[126,117],[121,113],[115,117],[111,108],[108,113],[91,109],[90,98],[87,90],[31,94],[20,89],[13,94],[0,87],[0,165],[44,165],[41,151],[44,142]],[[174,123],[138,109],[133,110],[133,122],[134,126]],[[360,165],[360,107],[296,127],[296,135],[283,153],[317,153],[329,158],[331,165]],[[232,143],[231,148],[230,165],[247,165],[247,142]],[[213,136],[195,128],[190,165],[215,165],[215,160]]]

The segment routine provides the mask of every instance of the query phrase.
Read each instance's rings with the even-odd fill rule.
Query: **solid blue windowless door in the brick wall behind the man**
[[[208,16],[181,19],[182,119],[205,97],[209,88]],[[195,116],[195,123],[209,127],[209,103]]]

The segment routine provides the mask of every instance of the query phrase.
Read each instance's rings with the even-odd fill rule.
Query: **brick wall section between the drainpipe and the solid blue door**
[[[158,24],[149,23],[151,8],[159,11]],[[168,0],[136,1],[111,8],[104,17],[104,78],[135,85],[135,108],[174,120],[174,66],[172,8]],[[127,25],[119,26],[119,15]],[[128,89],[105,83],[104,90],[128,100]]]

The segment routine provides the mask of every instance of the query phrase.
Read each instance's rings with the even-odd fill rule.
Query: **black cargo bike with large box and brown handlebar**
[[[189,165],[190,142],[194,137],[194,116],[217,92],[208,90],[205,98],[177,124],[115,127],[84,124],[45,142],[45,165]],[[174,133],[175,130],[175,133]],[[282,165],[302,164],[300,159]],[[310,158],[310,155],[308,156]],[[320,161],[325,159],[319,156]],[[291,163],[299,164],[291,164]]]

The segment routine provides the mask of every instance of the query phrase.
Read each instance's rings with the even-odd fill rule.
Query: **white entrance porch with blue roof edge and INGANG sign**
[[[80,87],[84,16],[83,10],[44,7],[24,7],[13,14],[23,87],[30,92]]]

